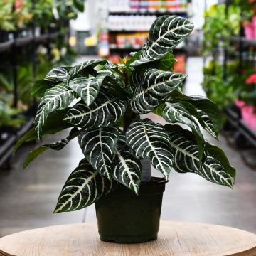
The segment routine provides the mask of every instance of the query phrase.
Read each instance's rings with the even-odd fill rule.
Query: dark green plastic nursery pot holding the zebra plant
[[[95,203],[100,239],[138,243],[157,239],[166,181],[152,178],[141,183],[139,196],[119,185]]]

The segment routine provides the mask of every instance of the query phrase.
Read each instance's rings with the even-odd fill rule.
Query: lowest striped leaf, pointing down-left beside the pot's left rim
[[[54,213],[80,210],[90,206],[103,193],[110,191],[111,187],[112,181],[95,171],[86,159],[82,159],[65,182]]]

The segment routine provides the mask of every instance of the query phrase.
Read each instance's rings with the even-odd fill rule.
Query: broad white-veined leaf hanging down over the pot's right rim
[[[174,155],[171,152],[169,134],[161,124],[149,119],[137,119],[127,129],[129,150],[138,159],[149,158],[151,164],[168,179]]]

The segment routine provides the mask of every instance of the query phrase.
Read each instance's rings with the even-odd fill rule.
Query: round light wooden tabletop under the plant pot
[[[0,255],[256,255],[256,235],[219,225],[161,222],[159,238],[142,244],[100,241],[96,223],[58,225],[7,235]]]

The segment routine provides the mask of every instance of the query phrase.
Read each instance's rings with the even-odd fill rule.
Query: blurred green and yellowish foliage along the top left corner
[[[33,6],[31,0],[23,0],[15,11],[14,3],[14,0],[0,0],[0,30],[22,30],[31,24],[32,18],[41,28],[56,26],[59,21],[76,18],[78,12],[84,11],[85,1],[36,0]],[[54,9],[57,11],[55,16]]]

